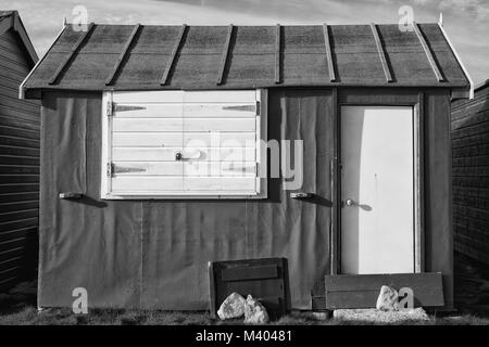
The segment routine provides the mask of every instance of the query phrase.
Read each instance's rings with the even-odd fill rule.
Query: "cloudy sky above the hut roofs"
[[[489,79],[489,0],[2,0],[0,10],[20,12],[41,56],[78,5],[88,22],[160,25],[397,24],[402,7],[417,23],[436,23],[441,12],[475,83]]]

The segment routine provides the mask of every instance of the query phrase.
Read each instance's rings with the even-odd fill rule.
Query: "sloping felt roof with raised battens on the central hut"
[[[467,76],[438,24],[421,24],[416,28],[401,31],[398,25],[231,29],[95,25],[89,33],[83,33],[66,25],[24,87],[25,90],[468,88]]]

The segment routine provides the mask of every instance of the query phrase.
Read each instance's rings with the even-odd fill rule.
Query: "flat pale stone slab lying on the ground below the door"
[[[429,317],[423,308],[400,309],[398,311],[381,311],[377,309],[340,309],[333,312],[335,319],[368,323],[399,323],[428,321]]]

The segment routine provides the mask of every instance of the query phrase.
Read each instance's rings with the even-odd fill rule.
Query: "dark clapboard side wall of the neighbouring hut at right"
[[[455,249],[489,265],[489,80],[452,104]]]

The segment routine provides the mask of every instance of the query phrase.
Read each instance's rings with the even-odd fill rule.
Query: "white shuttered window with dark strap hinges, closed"
[[[103,94],[102,198],[266,197],[266,90]]]

